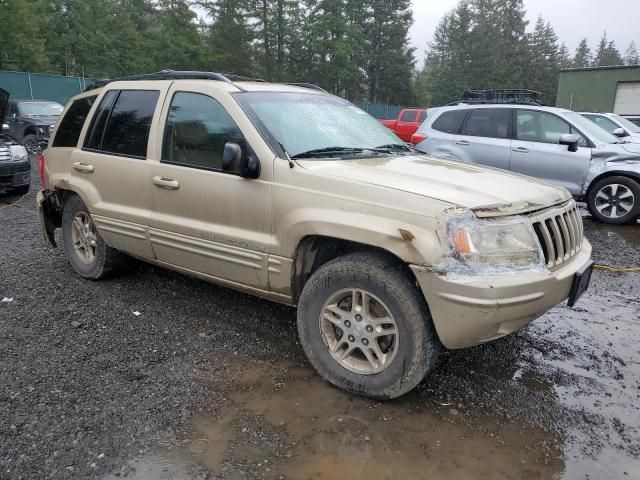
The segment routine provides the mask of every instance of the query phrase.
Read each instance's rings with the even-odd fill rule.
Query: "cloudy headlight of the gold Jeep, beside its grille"
[[[447,222],[447,235],[453,256],[474,273],[544,268],[540,243],[526,217],[455,217]]]

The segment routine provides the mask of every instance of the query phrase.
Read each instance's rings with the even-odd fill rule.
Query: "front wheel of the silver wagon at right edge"
[[[603,178],[589,189],[591,215],[604,223],[629,223],[640,216],[640,184],[629,177]]]

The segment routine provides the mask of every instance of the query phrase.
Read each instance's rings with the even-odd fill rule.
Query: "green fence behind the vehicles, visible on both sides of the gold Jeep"
[[[91,78],[0,70],[0,88],[8,91],[11,98],[53,100],[63,105],[93,82]],[[396,118],[400,110],[405,108],[401,105],[386,103],[355,102],[355,104],[379,119]]]

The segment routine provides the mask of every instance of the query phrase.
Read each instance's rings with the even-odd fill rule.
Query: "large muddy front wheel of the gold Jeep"
[[[375,399],[413,389],[440,349],[414,281],[370,253],[339,257],[314,272],[298,303],[298,334],[325,380]]]

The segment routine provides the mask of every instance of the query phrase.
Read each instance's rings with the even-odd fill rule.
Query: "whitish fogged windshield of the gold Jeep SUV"
[[[410,153],[395,134],[364,110],[315,93],[244,92],[235,95],[267,141],[292,158]]]

